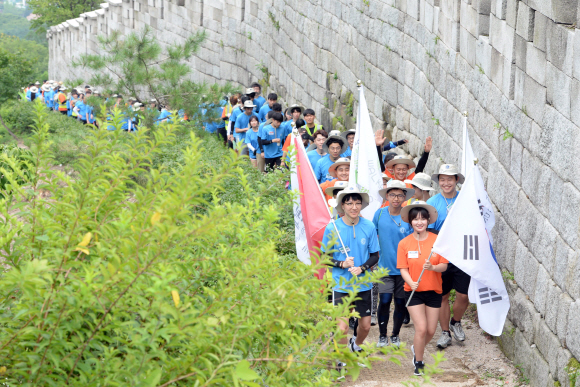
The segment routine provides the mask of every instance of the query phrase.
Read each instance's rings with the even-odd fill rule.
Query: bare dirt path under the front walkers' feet
[[[519,377],[519,371],[499,349],[496,341],[485,334],[477,324],[475,312],[469,310],[467,318],[462,321],[467,339],[459,343],[453,339],[453,345],[445,350],[445,360],[441,363],[443,373],[433,377],[436,386],[518,386],[524,384]],[[392,316],[389,321],[389,334],[392,328]],[[372,369],[363,369],[360,377],[353,382],[347,380],[342,386],[348,387],[379,387],[401,386],[402,382],[413,378],[410,348],[413,342],[413,323],[404,325],[401,329],[401,340],[407,344],[407,359],[398,366],[392,362],[377,362]],[[433,363],[431,354],[438,350],[436,342],[441,335],[437,328],[435,337],[425,350],[425,359],[428,364]],[[376,343],[379,339],[378,326],[371,327],[367,338]]]

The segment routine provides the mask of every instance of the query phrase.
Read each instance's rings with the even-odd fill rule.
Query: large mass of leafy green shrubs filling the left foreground
[[[184,129],[163,124],[153,138],[88,129],[71,177],[51,169],[51,113],[34,106],[30,173],[2,170],[13,192],[0,198],[6,384],[322,386],[337,359],[355,376],[376,360],[334,344],[346,306],[327,302],[317,266],[276,252],[290,202],[266,195],[284,192],[284,176],[250,180],[233,151],[207,164],[193,134],[179,165],[156,167]],[[223,202],[228,180],[237,199]]]

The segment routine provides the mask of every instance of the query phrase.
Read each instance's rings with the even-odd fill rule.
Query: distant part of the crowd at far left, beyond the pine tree
[[[155,115],[156,123],[171,121],[172,119],[172,112],[169,106],[163,106],[155,99],[150,100],[148,106],[145,106],[134,97],[129,97],[125,101],[121,94],[101,95],[98,90],[90,85],[69,89],[63,82],[46,80],[42,84],[40,82],[30,83],[23,88],[23,92],[26,100],[35,101],[39,99],[49,110],[72,117],[83,124],[100,125],[95,113],[95,102],[89,100],[91,97],[98,97],[99,103],[110,101],[108,105],[111,111],[114,108],[121,109],[123,111],[121,129],[125,131],[132,132],[139,128],[143,120],[141,112],[145,110]],[[183,111],[179,111],[178,115],[183,118]],[[107,115],[107,120],[112,120],[112,114]],[[107,129],[115,130],[116,128],[108,123]]]

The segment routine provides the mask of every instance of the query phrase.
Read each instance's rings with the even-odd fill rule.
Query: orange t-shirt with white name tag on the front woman
[[[423,270],[423,264],[429,258],[431,249],[435,244],[437,235],[433,233],[427,233],[427,239],[424,241],[417,241],[413,234],[409,235],[405,239],[399,242],[399,248],[397,249],[397,269],[409,269],[409,274],[413,281],[417,281]],[[421,247],[419,252],[418,246]],[[412,258],[411,256],[416,256],[417,258]],[[437,253],[433,253],[431,256],[431,264],[433,266],[440,263],[449,263],[448,260],[443,258]],[[436,293],[441,294],[443,281],[441,279],[441,273],[437,273],[432,270],[425,270],[423,277],[421,277],[421,282],[419,282],[419,287],[417,292],[426,292],[429,290],[434,290]],[[405,282],[405,291],[410,292],[411,287]]]

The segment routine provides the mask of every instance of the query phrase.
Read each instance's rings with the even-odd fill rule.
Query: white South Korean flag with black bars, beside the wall
[[[469,299],[477,304],[479,326],[490,335],[499,336],[510,302],[486,230],[478,195],[480,184],[483,187],[481,173],[474,166],[439,232],[433,251],[471,276]]]

